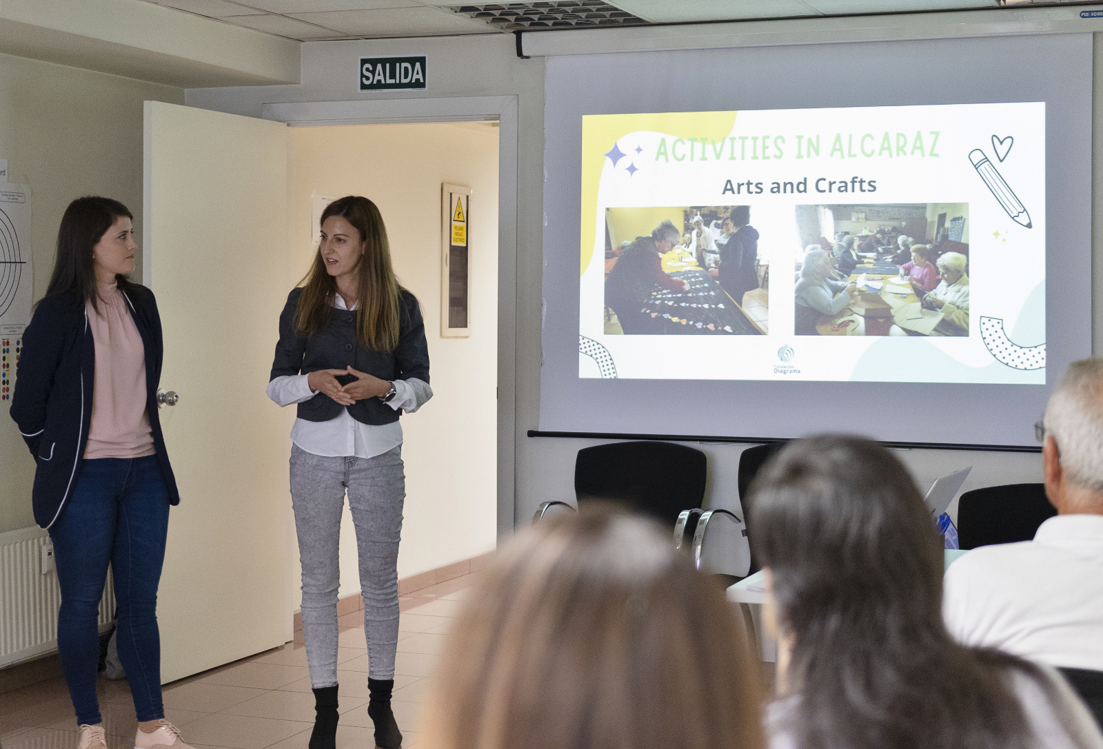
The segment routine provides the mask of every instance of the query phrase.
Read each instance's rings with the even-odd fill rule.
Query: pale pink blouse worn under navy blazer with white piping
[[[130,307],[115,283],[96,283],[99,312],[86,304],[96,342],[96,381],[85,460],[151,456],[146,413],[146,350]]]

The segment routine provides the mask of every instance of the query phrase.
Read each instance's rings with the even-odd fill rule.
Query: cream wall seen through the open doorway
[[[395,272],[421,302],[432,399],[403,416],[406,505],[398,576],[495,546],[497,129],[485,124],[356,125],[291,129],[292,242],[313,257],[311,195],[365,195],[387,226]],[[471,336],[440,336],[440,185],[471,196]],[[360,590],[345,507],[341,595]],[[292,581],[298,588],[298,568]],[[293,600],[298,601],[298,596]]]

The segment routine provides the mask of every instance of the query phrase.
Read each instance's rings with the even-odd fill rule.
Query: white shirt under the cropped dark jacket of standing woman
[[[347,310],[341,295],[335,295],[339,310]],[[356,309],[356,304],[352,306]],[[278,406],[290,406],[310,400],[318,394],[308,383],[310,375],[282,375],[268,383],[266,393]],[[410,377],[395,379],[395,397],[387,405],[406,414],[413,414],[432,397],[429,383]],[[398,421],[390,424],[361,424],[352,417],[347,408],[329,421],[296,419],[291,427],[291,441],[315,456],[373,458],[393,450],[403,443],[403,427]]]

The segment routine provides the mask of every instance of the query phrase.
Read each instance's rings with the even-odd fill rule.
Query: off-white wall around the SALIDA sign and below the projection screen
[[[911,18],[911,17],[909,17]],[[929,19],[928,19],[929,20]],[[826,20],[824,23],[829,23]],[[805,23],[805,22],[802,22]],[[815,29],[817,21],[807,21]],[[822,25],[822,24],[821,24]],[[826,28],[826,26],[824,26]],[[947,32],[949,33],[949,32]],[[831,41],[831,34],[821,34],[817,41]],[[1096,40],[1099,41],[1099,40]],[[595,50],[596,52],[600,50]],[[356,92],[351,83],[351,71],[357,55],[428,54],[430,55],[429,87],[417,93]],[[1103,55],[1096,54],[1097,75],[1094,97],[1095,149],[1093,196],[1099,211],[1103,211]],[[525,432],[537,428],[540,374],[540,274],[543,222],[543,159],[544,159],[544,62],[542,58],[521,60],[515,54],[514,40],[505,36],[475,36],[465,39],[407,39],[350,42],[319,42],[304,44],[302,51],[302,83],[295,86],[265,88],[190,89],[190,106],[259,116],[263,104],[269,101],[336,101],[379,98],[427,98],[454,96],[516,95],[521,136],[518,139],[517,168],[517,256],[516,282],[503,275],[500,293],[515,293],[516,357],[515,382],[500,383],[503,395],[511,385],[515,395],[503,408],[515,406],[512,434],[515,449],[513,466],[501,466],[500,488],[508,491],[515,486],[512,506],[500,510],[500,527],[514,521],[524,524],[538,504],[546,500],[569,497],[572,492],[575,454],[579,448],[598,443],[598,440],[528,438]],[[1094,228],[1093,255],[1103,248],[1103,222]],[[503,268],[508,258],[503,258]],[[1103,264],[1093,268],[1096,283],[1103,289]],[[1093,291],[1092,320],[1094,351],[1103,352],[1103,306]],[[506,322],[503,321],[503,325]],[[508,413],[508,411],[506,411]],[[452,427],[461,428],[461,427]],[[740,446],[707,445],[711,473],[706,500],[714,506],[731,506],[736,501],[735,477]],[[1041,460],[1038,454],[1014,452],[960,452],[951,450],[911,450],[902,453],[920,483],[927,483],[962,466],[973,464],[974,470],[964,489],[1018,481],[1040,481]],[[511,470],[512,468],[512,470]],[[507,473],[507,474],[506,474]],[[512,511],[512,512],[510,512]],[[503,523],[503,520],[505,523]],[[503,531],[505,529],[503,527]]]

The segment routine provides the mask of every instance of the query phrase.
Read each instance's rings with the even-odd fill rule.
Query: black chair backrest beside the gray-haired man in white
[[[974,489],[957,501],[957,539],[962,548],[1030,541],[1056,514],[1043,484]]]

